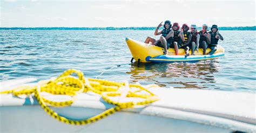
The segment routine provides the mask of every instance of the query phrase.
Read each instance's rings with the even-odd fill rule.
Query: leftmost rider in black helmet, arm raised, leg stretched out
[[[156,45],[158,47],[162,47],[164,48],[164,55],[168,54],[168,49],[170,48],[171,44],[172,44],[172,40],[173,40],[173,30],[171,29],[172,24],[171,21],[166,20],[164,23],[164,29],[161,31],[158,31],[158,29],[163,26],[162,24],[163,22],[161,22],[157,28],[156,31],[154,31],[154,35],[160,35],[160,39],[156,40],[154,38],[151,37],[147,37],[147,39],[145,40],[145,43],[153,43],[153,45]]]

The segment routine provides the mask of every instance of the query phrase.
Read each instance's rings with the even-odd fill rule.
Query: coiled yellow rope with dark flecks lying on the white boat
[[[72,73],[77,73],[78,78],[75,76],[71,76]],[[127,88],[129,87],[129,88]],[[126,90],[124,89],[126,88]],[[128,89],[128,90],[127,90]],[[58,115],[58,113],[54,112],[52,109],[48,107],[47,104],[50,104],[53,107],[65,107],[70,106],[74,101],[77,94],[92,91],[97,94],[102,95],[102,98],[108,102],[109,104],[116,105],[113,108],[105,110],[105,112],[100,113],[96,116],[93,116],[86,120],[70,120],[66,117]],[[126,92],[125,92],[126,91]],[[51,94],[64,94],[70,95],[72,100],[67,101],[51,101],[45,99],[40,93],[41,92],[48,92]],[[109,80],[102,80],[102,79],[92,79],[92,78],[85,78],[83,72],[75,69],[69,69],[63,72],[56,79],[48,80],[48,81],[41,81],[38,83],[37,86],[22,86],[15,88],[13,90],[3,91],[0,93],[12,93],[16,96],[18,95],[31,95],[34,94],[35,98],[38,100],[39,105],[45,110],[46,113],[51,115],[53,118],[57,119],[58,121],[73,124],[73,125],[83,125],[89,124],[92,122],[96,122],[100,119],[103,119],[106,116],[109,116],[115,112],[118,112],[124,108],[131,108],[136,105],[147,105],[154,101],[159,100],[159,98],[148,91],[145,87],[133,84],[130,85],[128,83],[117,83],[111,82]],[[119,102],[114,101],[111,97],[137,97],[143,98],[143,101],[139,102]]]

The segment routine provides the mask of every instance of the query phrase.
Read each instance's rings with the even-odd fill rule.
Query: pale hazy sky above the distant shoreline
[[[255,1],[0,0],[1,27],[254,26]]]

